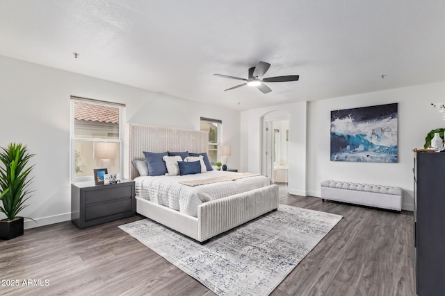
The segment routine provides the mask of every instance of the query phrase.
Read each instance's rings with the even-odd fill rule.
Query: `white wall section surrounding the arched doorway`
[[[306,195],[306,102],[241,112],[241,171],[261,173],[261,117],[275,111],[289,114],[288,191]]]

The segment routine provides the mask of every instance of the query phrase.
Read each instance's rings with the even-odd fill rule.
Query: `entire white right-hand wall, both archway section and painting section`
[[[423,148],[430,130],[445,127],[442,114],[430,106],[436,102],[445,102],[445,82],[241,112],[241,168],[260,172],[261,116],[286,110],[291,114],[289,193],[320,196],[323,180],[387,184],[403,189],[402,207],[412,210],[412,149]],[[331,162],[330,112],[387,103],[398,103],[398,163]]]

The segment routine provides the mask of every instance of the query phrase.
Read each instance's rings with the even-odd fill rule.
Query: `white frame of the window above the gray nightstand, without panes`
[[[102,139],[102,138],[76,138],[74,137],[74,103],[87,103],[91,105],[99,105],[104,107],[115,107],[119,110],[119,137],[118,139]],[[125,122],[125,104],[113,103],[107,101],[99,101],[92,98],[81,98],[78,96],[70,97],[70,180],[71,182],[85,182],[94,180],[93,172],[91,175],[76,177],[76,153],[75,143],[78,142],[108,142],[119,143],[119,173],[118,177],[122,177],[124,173],[124,122]]]

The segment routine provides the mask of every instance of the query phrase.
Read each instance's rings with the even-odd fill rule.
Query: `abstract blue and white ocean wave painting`
[[[331,111],[331,160],[397,162],[397,103]]]

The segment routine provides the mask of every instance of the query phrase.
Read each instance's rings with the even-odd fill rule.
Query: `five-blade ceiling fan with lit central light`
[[[257,87],[263,94],[267,94],[269,92],[272,92],[272,89],[270,89],[267,85],[264,84],[264,82],[286,82],[286,81],[297,81],[300,76],[298,75],[288,75],[288,76],[275,76],[275,77],[268,77],[263,78],[264,73],[267,72],[269,69],[270,64],[267,62],[259,62],[257,64],[257,67],[252,67],[249,69],[249,78],[239,78],[234,76],[227,76],[223,74],[213,74],[214,76],[223,77],[223,78],[230,78],[230,79],[236,79],[236,80],[244,80],[245,83],[241,85],[236,85],[236,87],[231,87],[227,90],[236,89],[238,87],[242,87],[244,85],[248,85],[251,87]]]

